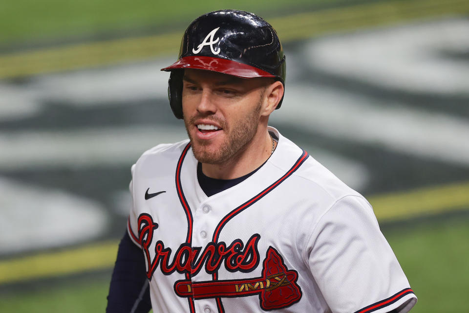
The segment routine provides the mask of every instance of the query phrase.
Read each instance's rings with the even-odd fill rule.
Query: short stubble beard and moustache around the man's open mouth
[[[223,131],[226,131],[226,121],[214,115],[204,116],[199,114],[193,116],[190,120],[184,118],[194,157],[199,162],[207,164],[223,164],[227,162],[253,140],[257,133],[260,109],[261,101],[258,102],[256,108],[251,111],[245,119],[232,126],[232,131],[228,134],[228,140],[226,140],[226,142],[222,143],[220,147],[215,147],[210,150],[208,148],[210,146],[209,142],[198,142],[192,138],[189,127],[194,125],[194,121],[198,118],[208,118],[219,124],[223,128]]]

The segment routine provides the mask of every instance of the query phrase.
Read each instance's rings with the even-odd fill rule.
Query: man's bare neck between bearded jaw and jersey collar
[[[272,154],[272,138],[265,129],[233,157],[221,164],[202,163],[202,172],[214,179],[235,179],[251,173]]]

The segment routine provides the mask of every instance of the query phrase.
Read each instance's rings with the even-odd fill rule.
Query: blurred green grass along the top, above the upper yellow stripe
[[[285,10],[298,12],[306,6],[336,2],[357,0],[7,0],[0,4],[0,45],[148,28],[170,31],[178,23],[184,28],[198,15],[217,9],[278,15]]]

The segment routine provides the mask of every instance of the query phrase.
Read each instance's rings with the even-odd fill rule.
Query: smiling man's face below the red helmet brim
[[[184,123],[195,158],[222,164],[249,147],[260,120],[265,79],[186,69]]]

